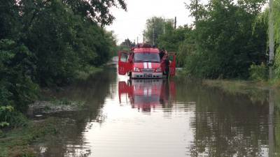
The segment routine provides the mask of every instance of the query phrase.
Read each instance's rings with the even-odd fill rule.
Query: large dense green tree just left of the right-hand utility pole
[[[190,5],[196,17],[195,42],[188,44],[195,52],[186,55],[187,72],[208,78],[249,77],[252,63],[267,60],[267,22],[256,20],[262,16],[264,2],[223,0]]]

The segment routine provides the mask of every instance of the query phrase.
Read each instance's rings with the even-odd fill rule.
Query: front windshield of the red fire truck
[[[135,53],[134,62],[160,62],[160,55],[158,53]]]

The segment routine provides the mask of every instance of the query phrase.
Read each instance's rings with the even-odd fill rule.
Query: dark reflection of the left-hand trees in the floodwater
[[[53,94],[57,98],[82,100],[86,105],[82,111],[53,115],[59,119],[57,130],[60,133],[59,137],[53,137],[45,143],[46,151],[43,156],[90,156],[90,147],[86,147],[83,132],[91,127],[90,121],[99,117],[99,108],[112,92],[111,84],[116,80],[116,73],[113,73],[113,69],[109,70],[111,73],[108,70]]]

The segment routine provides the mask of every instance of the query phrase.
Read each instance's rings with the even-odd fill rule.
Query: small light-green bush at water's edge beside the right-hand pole
[[[267,66],[265,66],[265,63],[261,63],[260,65],[255,65],[255,63],[253,63],[249,68],[249,72],[251,80],[267,80],[268,69]]]

